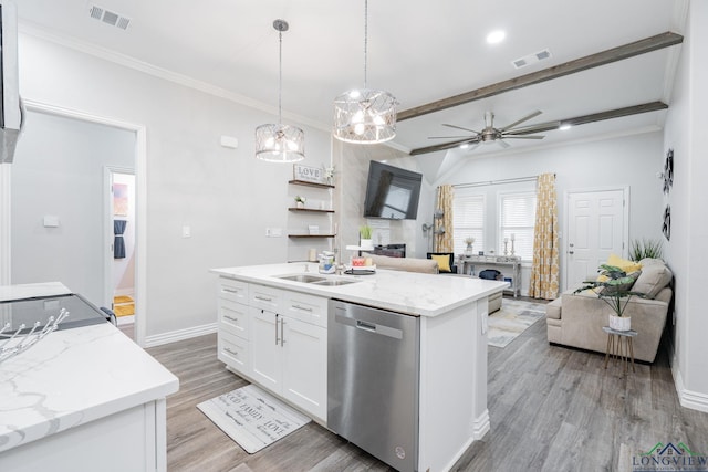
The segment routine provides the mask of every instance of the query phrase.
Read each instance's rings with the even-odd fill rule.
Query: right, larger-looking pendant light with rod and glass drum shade
[[[334,137],[357,144],[385,143],[396,136],[396,98],[385,91],[367,88],[368,0],[364,0],[364,88],[334,99]]]

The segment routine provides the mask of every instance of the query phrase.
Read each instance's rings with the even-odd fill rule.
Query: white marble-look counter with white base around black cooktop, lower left
[[[67,293],[6,286],[0,301]],[[110,323],[55,331],[0,364],[0,469],[165,470],[165,397],[178,386]]]

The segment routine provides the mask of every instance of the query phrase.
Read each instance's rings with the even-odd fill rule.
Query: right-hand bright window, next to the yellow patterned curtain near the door
[[[533,227],[535,223],[535,193],[504,193],[499,197],[499,253],[503,254],[504,238],[511,254],[514,239],[514,255],[524,261],[533,259]]]

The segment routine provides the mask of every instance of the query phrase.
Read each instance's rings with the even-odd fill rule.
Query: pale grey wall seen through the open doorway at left
[[[61,281],[104,301],[104,166],[131,168],[135,134],[29,112],[11,167],[12,283]],[[43,218],[59,227],[45,228]]]

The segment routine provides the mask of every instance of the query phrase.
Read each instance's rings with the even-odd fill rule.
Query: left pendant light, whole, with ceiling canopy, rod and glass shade
[[[273,21],[278,31],[279,75],[278,75],[278,124],[261,125],[256,128],[256,157],[269,162],[296,162],[305,158],[305,134],[295,126],[282,124],[282,81],[283,81],[283,31],[288,31],[288,22]]]

